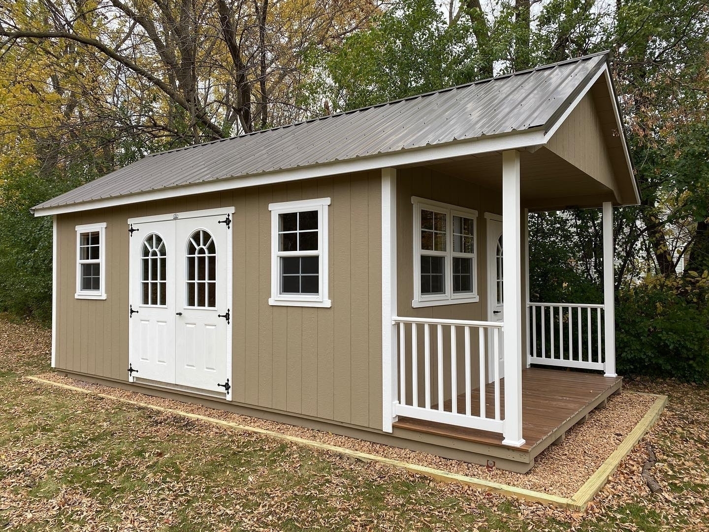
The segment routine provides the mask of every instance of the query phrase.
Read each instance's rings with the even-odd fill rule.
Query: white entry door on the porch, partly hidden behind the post
[[[502,269],[502,219],[488,219],[487,222],[487,278],[488,278],[488,321],[504,322],[505,308],[503,301]],[[503,336],[499,336],[497,360],[494,359],[492,335],[489,337],[488,382],[494,378],[494,364],[498,365],[498,375],[504,375],[505,357]]]

